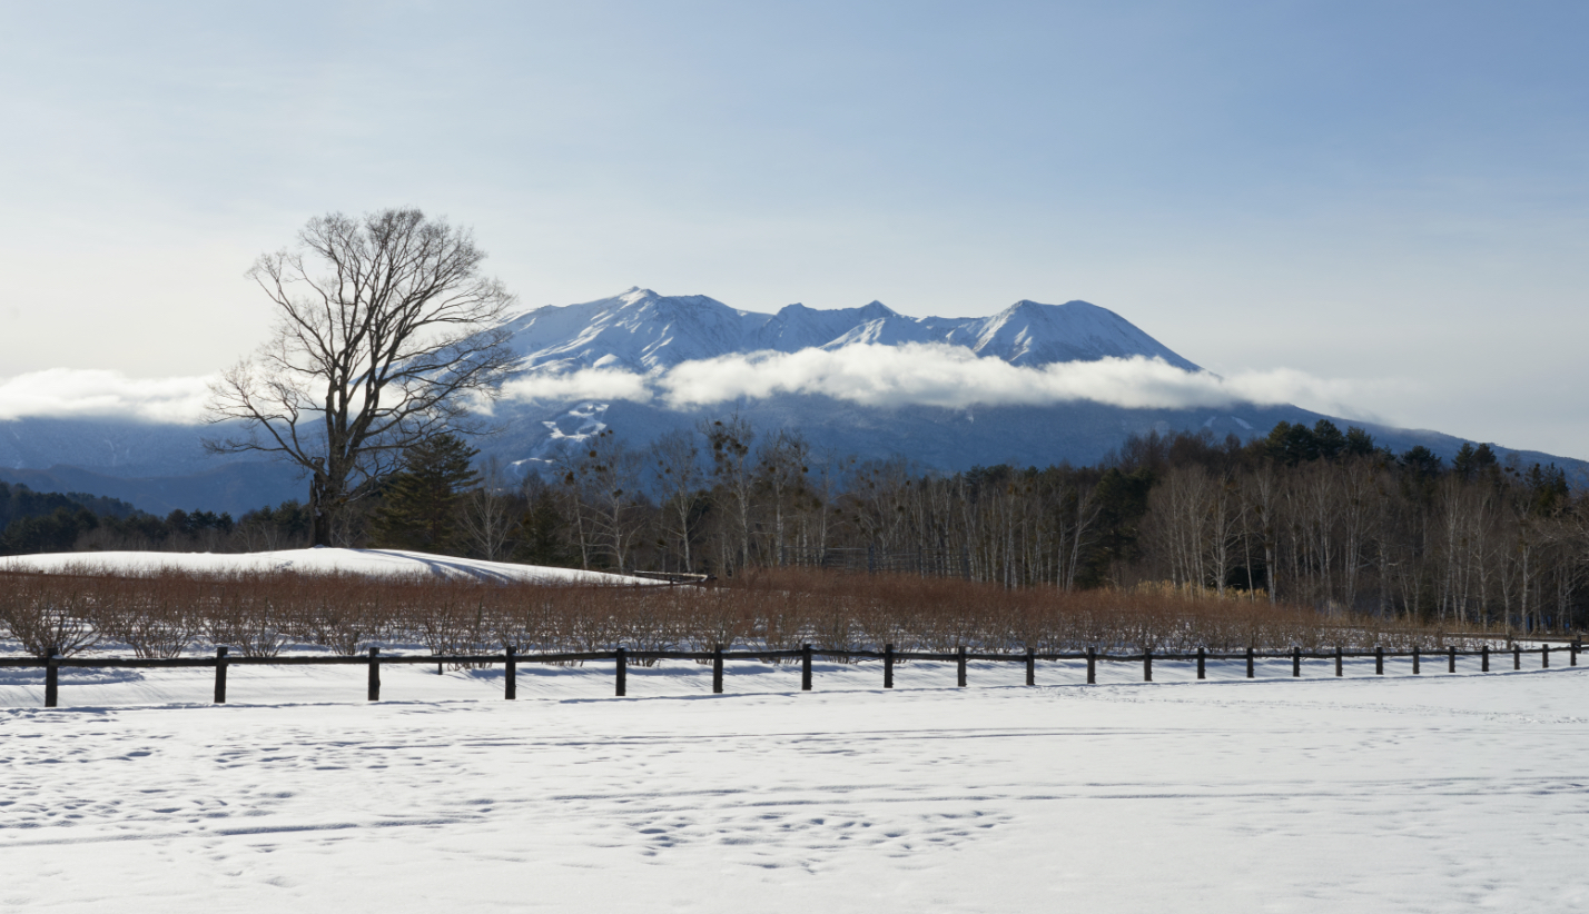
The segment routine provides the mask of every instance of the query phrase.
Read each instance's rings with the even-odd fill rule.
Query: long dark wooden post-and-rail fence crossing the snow
[[[513,647],[505,647],[502,654],[381,654],[380,647],[370,647],[365,655],[338,655],[338,657],[232,657],[226,647],[216,647],[215,657],[6,657],[0,659],[0,668],[43,668],[44,670],[44,708],[56,708],[60,697],[60,678],[62,668],[68,670],[116,670],[116,668],[133,668],[133,670],[180,670],[180,668],[215,668],[215,703],[226,703],[226,671],[229,666],[367,666],[369,668],[369,690],[367,698],[370,701],[380,701],[381,698],[381,666],[397,665],[397,663],[435,663],[435,665],[496,665],[502,663],[505,668],[504,676],[504,698],[518,697],[518,665],[520,663],[574,663],[574,662],[594,662],[594,660],[612,660],[615,674],[615,693],[621,698],[628,692],[628,668],[629,663],[639,663],[647,660],[710,660],[712,662],[712,692],[723,692],[723,663],[726,660],[799,660],[801,662],[801,690],[812,690],[812,660],[817,657],[837,659],[837,660],[882,660],[883,662],[883,689],[893,689],[893,673],[895,663],[901,660],[936,660],[936,662],[952,662],[957,665],[957,682],[960,687],[966,686],[966,663],[971,660],[987,660],[998,663],[1025,663],[1026,665],[1026,686],[1036,686],[1036,665],[1038,662],[1057,662],[1057,660],[1085,660],[1087,662],[1087,684],[1098,682],[1098,663],[1141,663],[1142,665],[1142,681],[1154,681],[1154,662],[1197,662],[1197,678],[1206,678],[1206,665],[1209,660],[1246,660],[1247,663],[1247,679],[1255,678],[1255,665],[1258,660],[1290,660],[1292,676],[1301,678],[1301,662],[1303,660],[1335,660],[1335,674],[1344,674],[1346,660],[1374,659],[1374,673],[1384,676],[1386,660],[1394,659],[1411,659],[1413,673],[1422,673],[1422,663],[1425,660],[1446,660],[1446,671],[1457,671],[1459,657],[1478,657],[1479,671],[1490,671],[1490,657],[1511,655],[1513,670],[1522,670],[1524,654],[1538,654],[1540,668],[1548,670],[1551,666],[1551,654],[1567,654],[1568,666],[1578,665],[1578,654],[1583,651],[1583,639],[1573,639],[1567,644],[1551,646],[1540,644],[1538,647],[1522,647],[1513,643],[1510,649],[1490,651],[1487,644],[1481,646],[1478,651],[1459,651],[1456,646],[1446,647],[1444,651],[1424,652],[1417,647],[1411,651],[1384,651],[1376,647],[1373,651],[1301,651],[1295,647],[1289,652],[1257,652],[1247,649],[1241,654],[1211,654],[1204,649],[1195,652],[1174,652],[1174,654],[1155,654],[1152,651],[1142,651],[1141,654],[1100,654],[1098,651],[1071,651],[1071,652],[1036,652],[1026,651],[1025,654],[985,654],[971,652],[965,647],[952,654],[933,654],[922,651],[895,651],[891,644],[885,644],[882,651],[844,651],[831,647],[812,647],[806,644],[798,649],[783,651],[629,651],[618,647],[613,651],[585,651],[585,652],[564,652],[564,654],[520,654]]]

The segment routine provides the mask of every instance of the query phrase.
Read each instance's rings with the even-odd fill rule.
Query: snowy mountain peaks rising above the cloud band
[[[947,343],[1031,367],[1146,355],[1198,370],[1125,317],[1087,301],[1022,300],[992,317],[907,317],[882,301],[836,311],[796,303],[763,314],[706,295],[629,289],[582,305],[537,308],[508,327],[524,367],[537,370],[650,371],[718,355],[837,349],[855,343]]]

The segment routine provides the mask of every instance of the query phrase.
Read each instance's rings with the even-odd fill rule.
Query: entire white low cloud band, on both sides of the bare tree
[[[0,378],[0,421],[105,417],[199,424],[213,379],[127,378],[118,371],[52,368]],[[1020,368],[979,359],[963,346],[912,343],[753,352],[685,362],[647,374],[586,368],[529,374],[504,387],[508,401],[628,400],[698,408],[740,398],[817,394],[864,406],[1041,406],[1092,400],[1111,406],[1179,409],[1230,403],[1298,403],[1341,413],[1351,384],[1301,371],[1219,376],[1158,359],[1101,359]],[[481,405],[486,406],[486,405]],[[486,406],[489,408],[489,406]]]

